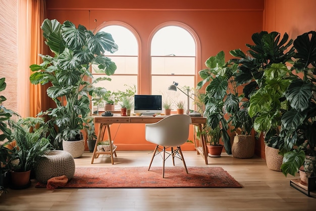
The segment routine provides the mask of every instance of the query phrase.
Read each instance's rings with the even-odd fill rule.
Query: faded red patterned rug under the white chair
[[[63,188],[242,188],[222,167],[76,167]],[[46,184],[37,183],[36,188]]]

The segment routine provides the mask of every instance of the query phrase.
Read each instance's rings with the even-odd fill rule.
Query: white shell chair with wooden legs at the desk
[[[175,165],[175,157],[182,160],[185,171],[188,170],[185,165],[184,157],[180,145],[184,144],[189,137],[189,126],[191,124],[191,117],[189,115],[177,114],[163,118],[159,122],[145,125],[145,139],[148,142],[156,144],[153,151],[150,166],[155,155],[163,153],[163,178],[165,178],[165,160],[171,155],[173,165]],[[162,146],[163,148],[161,148]],[[166,152],[166,148],[171,148],[171,152]],[[174,147],[177,149],[175,150]],[[157,153],[156,153],[157,152]],[[166,158],[166,153],[168,157]]]

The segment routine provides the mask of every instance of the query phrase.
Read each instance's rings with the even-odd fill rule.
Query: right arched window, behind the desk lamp
[[[195,87],[195,69],[196,43],[188,30],[181,26],[168,25],[154,33],[151,40],[152,94],[162,94],[163,101],[172,101],[173,109],[176,109],[177,102],[184,101],[184,108],[187,110],[187,96],[180,91],[169,91],[168,87],[175,81],[178,89],[185,93],[190,89],[192,92]]]

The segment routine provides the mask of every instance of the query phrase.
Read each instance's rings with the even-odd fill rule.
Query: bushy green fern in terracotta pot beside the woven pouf
[[[30,173],[40,157],[51,148],[46,137],[48,125],[41,118],[26,117],[11,121],[12,138],[17,145],[12,149],[8,165],[11,172],[11,188],[22,189],[30,185]]]

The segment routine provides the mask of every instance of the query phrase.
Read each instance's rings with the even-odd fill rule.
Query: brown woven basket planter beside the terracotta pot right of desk
[[[232,155],[236,158],[251,158],[254,155],[255,140],[253,136],[238,135],[234,137]]]

